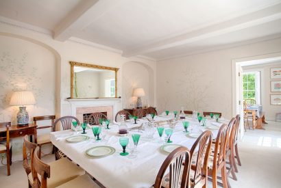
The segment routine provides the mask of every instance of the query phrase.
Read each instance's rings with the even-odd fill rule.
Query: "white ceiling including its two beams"
[[[167,59],[281,37],[277,0],[1,0],[0,15],[125,57]]]

